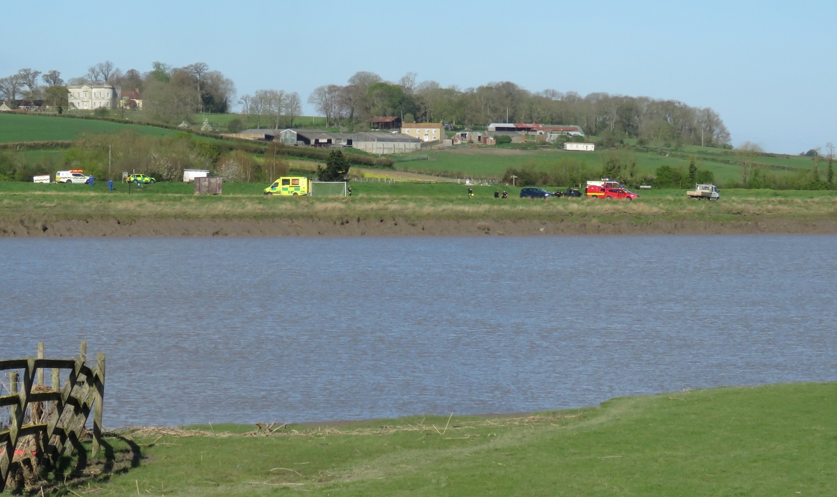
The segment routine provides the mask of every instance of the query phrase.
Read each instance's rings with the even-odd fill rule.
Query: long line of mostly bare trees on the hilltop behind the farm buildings
[[[347,85],[322,85],[308,98],[328,126],[367,125],[376,115],[398,115],[405,122],[486,126],[491,122],[578,125],[588,135],[618,141],[636,138],[670,145],[729,146],[730,133],[710,108],[676,100],[655,100],[557,90],[531,92],[510,81],[460,90],[436,81],[417,82],[408,73],[398,82],[358,72]]]

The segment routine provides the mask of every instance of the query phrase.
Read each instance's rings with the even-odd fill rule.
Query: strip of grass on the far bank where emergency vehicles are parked
[[[141,189],[105,182],[87,185],[0,182],[0,221],[117,218],[141,222],[156,219],[299,219],[340,222],[349,218],[405,220],[537,220],[634,223],[707,221],[713,223],[786,219],[834,220],[837,192],[725,190],[721,201],[689,199],[682,190],[642,192],[634,202],[593,198],[519,198],[520,188],[473,187],[457,183],[353,182],[353,196],[265,197],[267,183],[226,183],[221,196],[195,196],[193,186],[162,182]],[[509,198],[496,199],[496,189]]]

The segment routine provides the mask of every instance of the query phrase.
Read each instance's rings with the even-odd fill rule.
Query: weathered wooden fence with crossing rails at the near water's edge
[[[95,364],[87,366],[87,342],[72,359],[45,359],[44,342],[38,356],[0,361],[0,371],[8,371],[0,385],[0,493],[7,484],[15,489],[33,484],[43,470],[54,468],[64,453],[77,451],[84,464],[86,449],[82,440],[85,425],[93,411],[91,456],[102,446],[102,404],[105,399],[105,354],[97,354]],[[49,387],[44,385],[44,369],[52,373]],[[67,371],[61,387],[61,371]],[[8,423],[7,423],[8,420]]]

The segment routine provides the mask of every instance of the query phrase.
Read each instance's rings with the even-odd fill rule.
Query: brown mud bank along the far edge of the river
[[[3,219],[0,237],[415,236],[837,233],[837,219]]]

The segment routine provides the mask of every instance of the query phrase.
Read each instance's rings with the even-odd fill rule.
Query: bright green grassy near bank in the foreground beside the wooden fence
[[[837,384],[801,383],[525,418],[147,430],[110,438],[110,471],[96,460],[53,481],[63,495],[833,495],[835,408]]]

